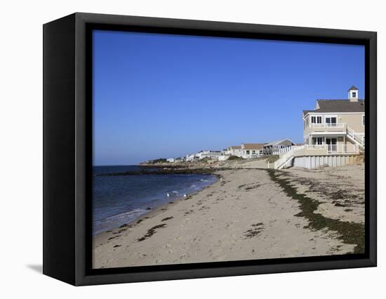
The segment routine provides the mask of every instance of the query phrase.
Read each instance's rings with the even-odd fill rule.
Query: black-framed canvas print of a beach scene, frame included
[[[375,32],[49,22],[44,274],[90,285],[375,266],[376,81]]]

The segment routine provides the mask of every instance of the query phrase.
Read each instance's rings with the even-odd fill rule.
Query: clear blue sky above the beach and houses
[[[364,96],[364,47],[93,33],[94,165],[302,142],[302,109]]]

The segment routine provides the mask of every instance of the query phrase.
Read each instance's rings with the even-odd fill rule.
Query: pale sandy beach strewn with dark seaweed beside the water
[[[221,179],[201,192],[95,236],[93,267],[336,255],[361,248],[342,232],[348,225],[359,234],[363,229],[364,166],[216,174]],[[286,190],[288,178],[291,190],[307,194],[303,201]],[[311,202],[317,209],[307,215],[302,209]]]

